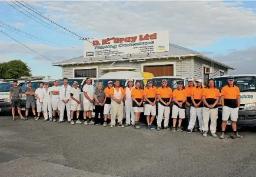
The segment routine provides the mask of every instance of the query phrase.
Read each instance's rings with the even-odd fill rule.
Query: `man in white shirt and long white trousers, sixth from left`
[[[71,122],[70,108],[71,108],[71,97],[70,91],[72,87],[68,85],[68,78],[63,78],[64,84],[61,86],[59,91],[59,97],[61,98],[61,114],[59,115],[58,123],[64,122],[64,111],[67,109],[68,122]]]

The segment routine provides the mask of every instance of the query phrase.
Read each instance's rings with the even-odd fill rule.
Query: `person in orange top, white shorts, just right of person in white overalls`
[[[141,128],[139,126],[139,117],[141,116],[141,112],[144,112],[143,89],[141,88],[141,83],[139,81],[135,82],[135,88],[132,89],[131,96],[132,96],[132,108],[134,109],[134,113],[135,113],[135,129],[139,129]]]

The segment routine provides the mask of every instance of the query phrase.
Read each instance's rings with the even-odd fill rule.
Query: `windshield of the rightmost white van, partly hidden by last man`
[[[255,76],[239,76],[239,77],[234,77],[235,82],[234,85],[238,86],[240,89],[240,92],[247,92],[247,91],[256,91],[255,90],[255,82],[256,82],[256,77]],[[216,87],[218,89],[221,89],[228,84],[228,78],[215,78],[216,81]]]

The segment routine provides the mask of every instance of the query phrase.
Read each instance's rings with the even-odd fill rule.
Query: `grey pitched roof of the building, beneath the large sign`
[[[188,48],[184,48],[179,45],[169,43],[169,51],[168,52],[154,52],[154,53],[146,53],[146,54],[131,54],[130,55],[113,55],[113,56],[99,56],[92,58],[84,58],[84,56],[78,56],[77,58],[67,59],[65,61],[61,61],[55,64],[54,66],[62,66],[69,64],[87,64],[94,62],[109,62],[109,61],[127,61],[127,60],[138,60],[138,59],[151,59],[151,58],[168,58],[173,56],[199,56],[202,59],[207,61],[215,62],[218,65],[224,66],[228,69],[235,69],[231,66],[222,64],[221,62],[216,61],[215,59],[211,59],[208,56],[204,56],[200,54],[200,52],[193,51]]]

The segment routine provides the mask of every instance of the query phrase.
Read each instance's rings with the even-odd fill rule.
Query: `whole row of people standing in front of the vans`
[[[81,96],[83,96],[84,106],[84,124],[98,125],[101,123],[107,126],[110,120],[110,127],[134,126],[139,129],[139,118],[141,113],[147,116],[148,129],[154,129],[152,122],[157,115],[158,101],[158,118],[157,131],[161,129],[162,119],[164,118],[164,129],[171,132],[181,132],[181,123],[185,119],[186,111],[188,115],[188,130],[191,133],[195,126],[199,129],[203,136],[207,136],[208,123],[211,119],[210,131],[213,137],[215,134],[218,119],[218,103],[221,99],[222,105],[222,133],[220,138],[225,137],[225,127],[228,119],[231,117],[232,129],[234,138],[243,138],[237,132],[238,109],[240,106],[240,90],[234,85],[234,77],[228,77],[228,85],[220,91],[215,88],[214,79],[209,79],[208,86],[202,86],[202,80],[197,79],[197,85],[194,85],[194,79],[188,79],[188,86],[183,86],[182,81],[177,82],[177,89],[172,91],[167,86],[167,80],[162,79],[162,86],[156,88],[153,81],[149,79],[147,86],[142,89],[139,81],[132,79],[128,80],[128,86],[123,89],[120,82],[108,81],[108,86],[103,90],[102,84],[97,82],[97,89],[91,85],[91,79],[86,79],[86,84],[82,91],[78,88],[78,83],[73,82],[72,87],[68,85],[68,78],[64,78],[64,85],[58,86],[58,81],[54,82],[54,86],[49,88],[47,83],[40,83],[38,89],[32,88],[32,83],[28,83],[25,89],[26,94],[26,112],[25,118],[21,115],[20,99],[21,88],[17,86],[17,81],[14,81],[14,86],[10,89],[10,102],[12,102],[12,115],[14,118],[15,106],[18,108],[18,113],[21,119],[28,119],[28,110],[32,108],[35,120],[39,119],[41,112],[44,115],[44,121],[56,122],[59,116],[58,123],[64,122],[64,111],[67,109],[68,122],[71,124],[82,123],[79,121],[79,112],[81,111]],[[45,85],[45,87],[44,87]],[[82,95],[81,95],[82,94]],[[36,102],[35,102],[36,96]],[[145,104],[144,104],[145,101]],[[171,102],[172,111],[171,111]],[[123,125],[123,106],[125,105],[126,121]],[[35,112],[35,106],[37,115]],[[95,106],[95,108],[94,108]],[[58,115],[57,115],[58,111]],[[94,121],[92,121],[92,111],[95,111]],[[74,120],[74,112],[77,113],[77,120]],[[169,129],[169,116],[171,112],[172,129]],[[48,114],[49,113],[49,114]],[[100,119],[99,119],[100,114]],[[109,117],[109,119],[108,119]],[[178,118],[178,122],[177,122]],[[101,122],[99,122],[99,120]],[[178,126],[177,126],[178,125]]]

